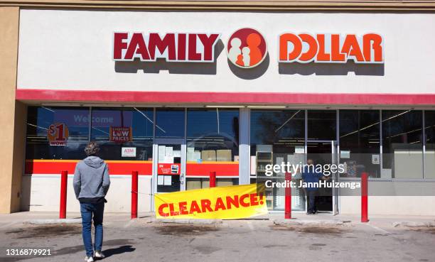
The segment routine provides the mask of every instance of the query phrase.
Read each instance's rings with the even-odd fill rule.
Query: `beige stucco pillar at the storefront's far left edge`
[[[0,7],[0,213],[20,209],[26,106],[15,101],[18,21],[18,7]]]

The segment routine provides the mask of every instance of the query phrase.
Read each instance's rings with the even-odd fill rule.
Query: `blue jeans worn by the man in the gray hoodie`
[[[82,213],[82,237],[83,244],[85,244],[86,256],[93,256],[95,251],[101,251],[102,246],[102,219],[104,213],[104,202],[93,203],[80,203],[80,212]],[[92,214],[94,215],[95,226],[95,246],[92,249]]]

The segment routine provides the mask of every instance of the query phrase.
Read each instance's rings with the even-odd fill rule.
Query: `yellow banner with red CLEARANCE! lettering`
[[[158,219],[241,219],[267,214],[264,187],[233,185],[156,194]]]

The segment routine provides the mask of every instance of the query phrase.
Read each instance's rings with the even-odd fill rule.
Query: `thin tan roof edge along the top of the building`
[[[227,11],[435,11],[427,1],[119,1],[119,0],[0,0],[0,6],[23,8],[154,9]]]

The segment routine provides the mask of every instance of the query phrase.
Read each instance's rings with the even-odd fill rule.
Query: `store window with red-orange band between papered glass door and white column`
[[[221,177],[217,186],[237,185],[239,110],[188,109],[186,158],[187,190],[208,187],[210,171]]]

